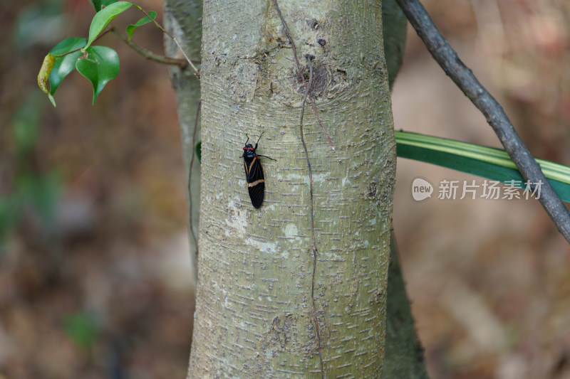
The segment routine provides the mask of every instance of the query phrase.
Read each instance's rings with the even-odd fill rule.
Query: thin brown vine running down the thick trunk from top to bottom
[[[295,47],[295,43],[293,38],[291,37],[291,33],[289,32],[289,28],[287,27],[287,23],[285,22],[285,18],[283,14],[281,14],[281,9],[279,9],[279,5],[277,5],[277,0],[273,0],[273,5],[279,14],[279,18],[281,18],[281,24],[283,25],[285,34],[287,38],[289,38],[289,43],[291,43],[291,47],[293,48],[293,54],[295,57],[295,63],[297,65],[297,71],[299,72],[299,76],[301,76],[301,80],[303,80],[303,84],[305,86],[305,95],[303,97],[303,102],[301,105],[301,120],[299,122],[299,129],[301,132],[301,144],[303,144],[303,149],[305,151],[305,158],[307,161],[307,167],[309,167],[309,199],[311,201],[311,235],[312,235],[312,242],[313,242],[313,276],[311,280],[311,302],[313,303],[313,316],[315,319],[315,330],[316,330],[316,342],[318,347],[318,362],[321,364],[321,378],[326,378],[325,370],[323,368],[323,355],[321,353],[321,331],[318,328],[318,318],[316,316],[316,305],[315,305],[315,272],[316,272],[316,238],[315,238],[315,223],[314,223],[314,208],[313,208],[313,171],[311,170],[311,161],[309,161],[309,151],[307,150],[307,146],[305,144],[305,139],[303,137],[303,116],[305,113],[305,103],[307,100],[307,96],[309,95],[309,90],[311,88],[311,82],[313,81],[313,65],[311,64],[311,60],[315,57],[313,55],[306,55],[306,59],[309,62],[309,84],[307,84],[303,74],[301,73],[301,65],[299,64],[299,58],[297,58],[297,49]],[[328,136],[328,134],[327,134]]]

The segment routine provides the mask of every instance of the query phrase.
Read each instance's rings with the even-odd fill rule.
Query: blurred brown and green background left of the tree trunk
[[[162,1],[139,1],[162,14]],[[184,378],[193,314],[185,228],[185,181],[175,97],[167,67],[113,35],[120,74],[91,105],[90,82],[74,72],[56,92],[38,92],[48,51],[86,36],[89,1],[0,4],[0,193],[22,172],[55,171],[51,223],[31,204],[0,253],[0,378]],[[113,24],[141,15],[128,11]],[[147,26],[133,41],[162,53]],[[14,148],[17,110],[33,101],[38,139]],[[25,113],[25,112],[24,112]]]

